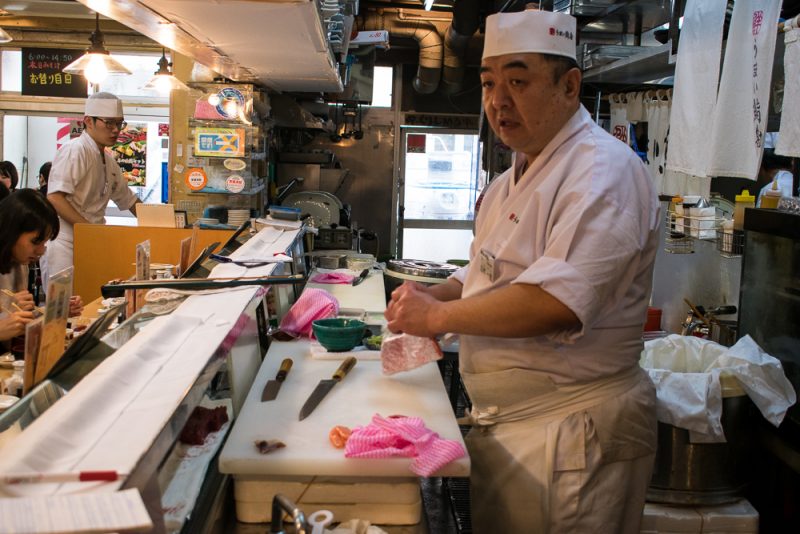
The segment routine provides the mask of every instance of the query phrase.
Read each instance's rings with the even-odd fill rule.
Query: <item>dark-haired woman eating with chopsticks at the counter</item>
[[[0,342],[25,333],[33,318],[28,292],[28,265],[38,260],[48,240],[58,235],[58,215],[52,204],[33,189],[23,189],[0,202],[0,291],[6,303],[0,311]],[[80,297],[70,300],[70,315],[83,311]]]

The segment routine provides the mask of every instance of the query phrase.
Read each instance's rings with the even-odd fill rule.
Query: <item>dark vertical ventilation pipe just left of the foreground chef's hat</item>
[[[458,0],[453,4],[453,21],[447,27],[444,38],[442,83],[447,94],[461,90],[467,45],[479,25],[478,0]]]

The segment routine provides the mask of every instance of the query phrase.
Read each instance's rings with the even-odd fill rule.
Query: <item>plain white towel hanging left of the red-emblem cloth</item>
[[[670,117],[667,168],[673,171],[705,176],[708,169],[710,118],[717,102],[727,3],[727,0],[686,3]]]

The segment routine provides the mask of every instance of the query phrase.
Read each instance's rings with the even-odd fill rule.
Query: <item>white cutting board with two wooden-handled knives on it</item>
[[[261,402],[264,385],[287,357],[294,360],[294,366],[278,397]],[[380,361],[359,361],[311,415],[298,421],[300,408],[319,380],[330,378],[340,363],[312,359],[308,340],[273,342],[222,450],[220,471],[234,475],[415,477],[409,469],[411,458],[345,458],[344,449],[331,445],[328,432],[333,426],[367,425],[376,413],[421,417],[441,437],[463,445],[435,363],[384,376]],[[286,447],[262,455],[254,445],[260,439],[278,439]],[[465,455],[436,476],[466,477],[469,471]]]

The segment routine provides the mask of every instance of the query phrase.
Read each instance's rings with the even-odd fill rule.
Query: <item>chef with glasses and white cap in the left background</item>
[[[136,213],[139,199],[128,187],[110,152],[125,128],[122,101],[111,93],[95,93],[86,100],[84,130],[62,146],[53,159],[47,199],[61,220],[61,232],[41,261],[42,285],[50,275],[73,265],[73,225],[104,224],[106,206],[113,200],[121,210]]]

